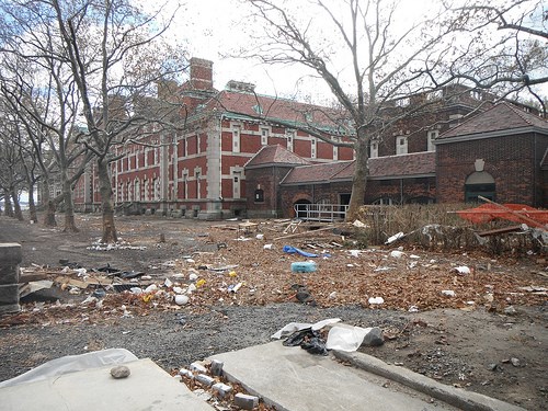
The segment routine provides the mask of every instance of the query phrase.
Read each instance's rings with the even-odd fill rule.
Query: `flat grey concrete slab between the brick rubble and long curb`
[[[212,359],[224,362],[228,379],[241,383],[277,410],[448,411],[458,410],[331,356],[307,353],[282,342],[256,345]]]

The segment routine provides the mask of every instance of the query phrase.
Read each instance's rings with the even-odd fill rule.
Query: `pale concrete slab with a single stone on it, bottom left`
[[[214,410],[151,359],[124,365],[132,372],[124,379],[112,378],[113,365],[109,365],[0,388],[0,408],[3,411]]]

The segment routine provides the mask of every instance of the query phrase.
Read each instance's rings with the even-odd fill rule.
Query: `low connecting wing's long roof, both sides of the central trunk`
[[[339,161],[297,167],[289,171],[282,184],[310,184],[349,181],[354,175],[355,161]],[[436,169],[435,151],[388,156],[368,160],[369,179],[388,180],[433,176]]]

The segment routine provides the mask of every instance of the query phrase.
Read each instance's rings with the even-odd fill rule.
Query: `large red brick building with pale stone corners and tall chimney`
[[[244,216],[243,167],[262,148],[281,145],[320,163],[353,159],[352,148],[338,148],[318,138],[346,138],[344,129],[326,115],[326,107],[260,95],[253,84],[238,81],[217,91],[212,61],[191,59],[190,80],[174,99],[182,106],[183,132],[146,129],[144,136],[115,148],[121,157],[112,164],[116,206],[204,219]],[[88,191],[77,187],[80,208],[99,205],[93,180],[88,175],[79,183],[90,187]],[[261,189],[253,184],[250,192],[256,190]]]

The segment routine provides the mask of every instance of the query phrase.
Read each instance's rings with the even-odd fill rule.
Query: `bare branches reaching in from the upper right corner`
[[[548,8],[539,0],[445,2],[445,25],[458,34],[447,71],[478,89],[494,89],[540,106],[548,82]]]

